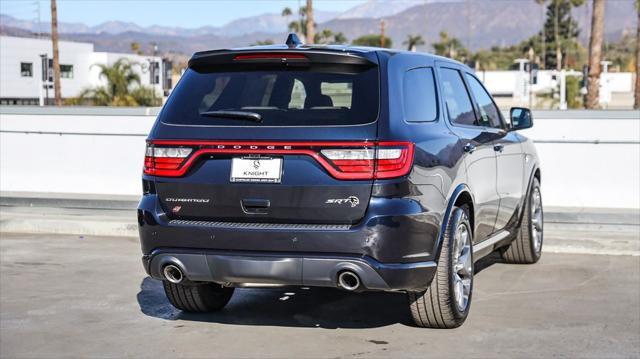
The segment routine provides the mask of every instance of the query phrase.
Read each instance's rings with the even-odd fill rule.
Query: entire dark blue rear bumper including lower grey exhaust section
[[[177,221],[153,194],[138,207],[143,261],[155,278],[172,260],[193,281],[335,287],[349,268],[375,290],[429,285],[440,219],[406,198],[372,198],[352,226]]]

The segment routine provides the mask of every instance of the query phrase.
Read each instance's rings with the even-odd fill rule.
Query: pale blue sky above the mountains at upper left
[[[364,0],[314,0],[318,10],[345,11]],[[58,0],[58,21],[97,25],[105,21],[133,22],[141,26],[163,25],[195,28],[220,26],[240,17],[294,12],[305,0]],[[49,21],[48,0],[0,0],[0,13],[18,19]]]

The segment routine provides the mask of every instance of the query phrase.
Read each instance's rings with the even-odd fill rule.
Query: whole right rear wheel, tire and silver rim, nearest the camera
[[[419,327],[456,328],[469,314],[473,292],[473,232],[467,213],[463,208],[454,207],[446,225],[438,267],[431,284],[425,291],[408,293],[411,315]],[[463,230],[466,244],[460,249]],[[464,276],[461,273],[465,273]],[[462,293],[466,293],[466,300]]]

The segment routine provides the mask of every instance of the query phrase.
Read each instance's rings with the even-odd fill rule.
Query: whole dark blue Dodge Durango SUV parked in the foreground
[[[169,301],[241,286],[406,292],[418,326],[469,312],[474,262],[535,263],[536,150],[468,67],[380,48],[199,52],[147,140],[144,267]]]

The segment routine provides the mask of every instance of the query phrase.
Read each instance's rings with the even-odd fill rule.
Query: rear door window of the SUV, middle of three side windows
[[[445,110],[452,123],[475,126],[476,114],[469,93],[458,70],[440,68],[440,81]]]

